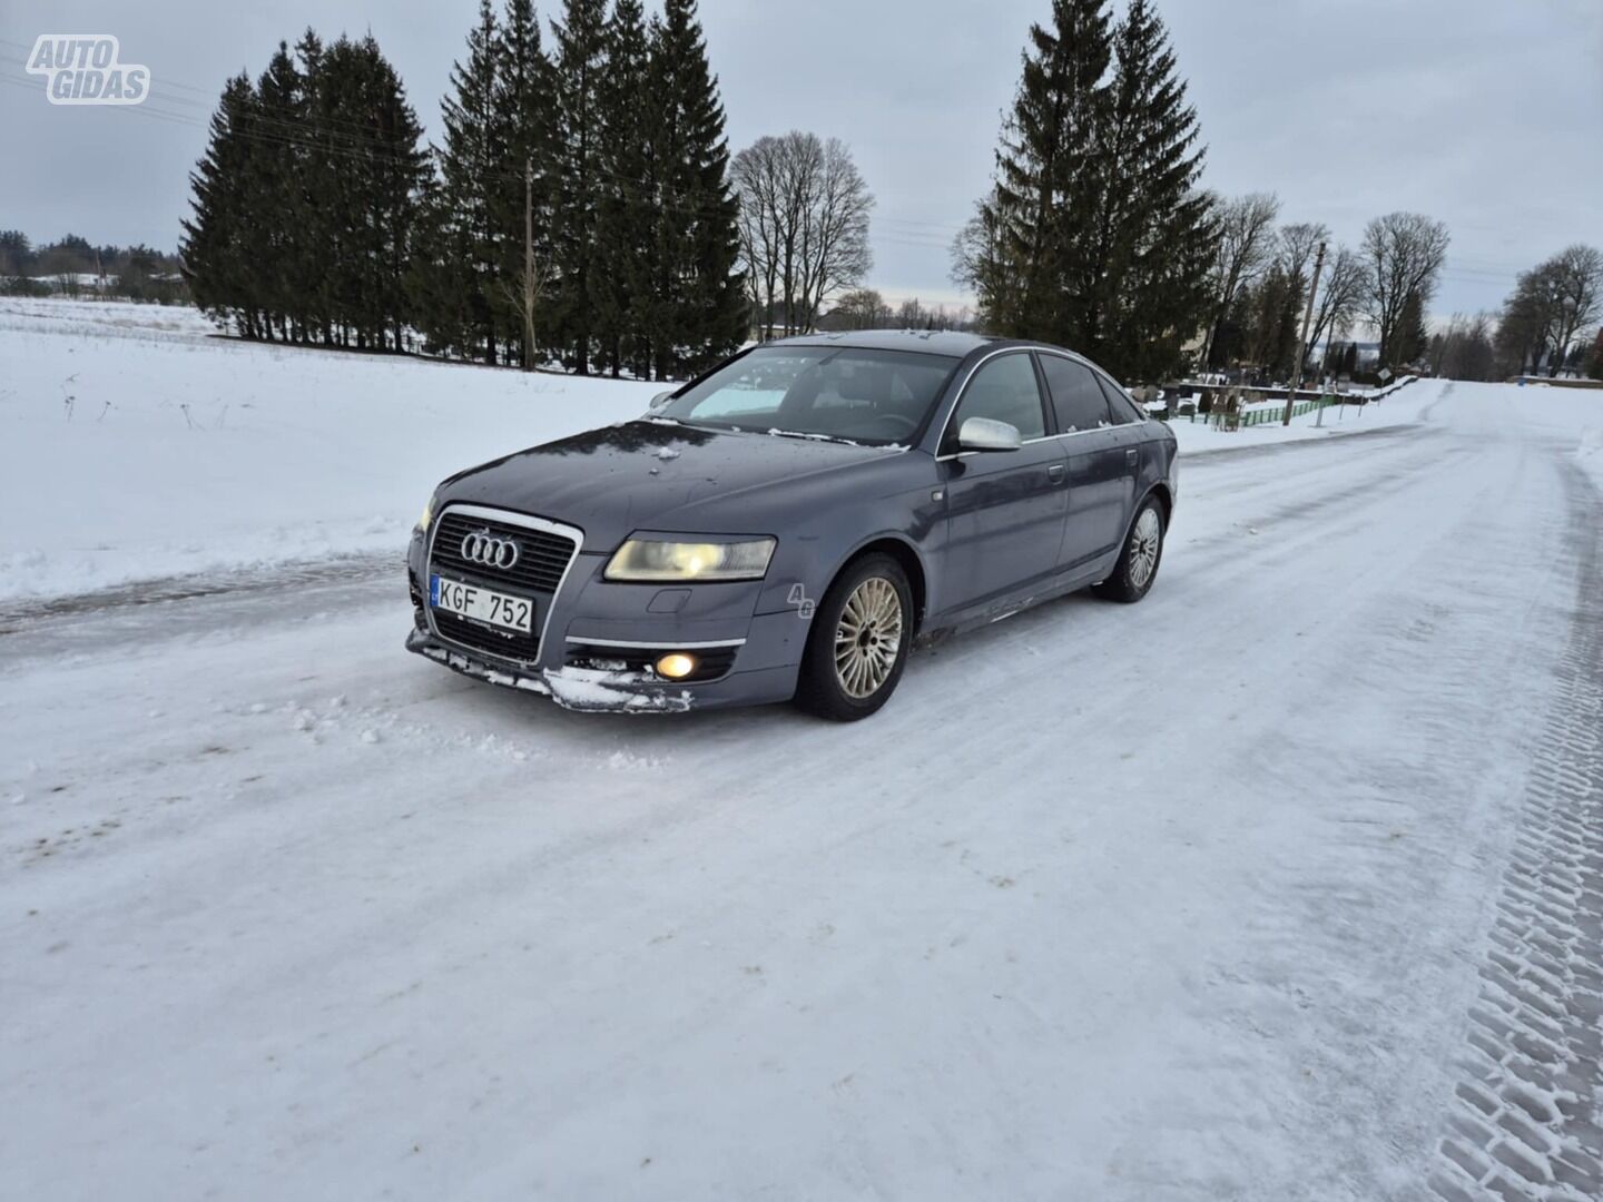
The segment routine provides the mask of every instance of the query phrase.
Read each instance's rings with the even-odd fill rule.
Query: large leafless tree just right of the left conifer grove
[[[811,329],[822,303],[874,263],[874,194],[838,138],[792,130],[734,157],[741,252],[765,338]]]

